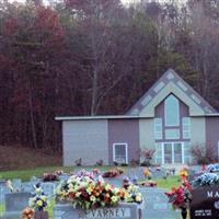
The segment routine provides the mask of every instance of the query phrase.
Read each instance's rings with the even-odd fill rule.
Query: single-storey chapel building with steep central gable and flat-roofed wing
[[[64,116],[64,165],[130,163],[154,149],[155,164],[191,164],[193,146],[219,157],[219,113],[177,73],[168,70],[124,115]]]

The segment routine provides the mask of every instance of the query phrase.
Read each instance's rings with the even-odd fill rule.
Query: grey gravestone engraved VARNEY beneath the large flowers
[[[54,219],[139,219],[137,204],[119,204],[117,207],[96,208],[92,210],[74,209],[72,205],[56,205]]]

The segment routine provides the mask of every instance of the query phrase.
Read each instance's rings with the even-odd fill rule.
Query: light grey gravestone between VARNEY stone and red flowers
[[[173,211],[165,196],[165,189],[162,188],[140,188],[145,198],[145,208],[142,218],[149,219],[176,219],[178,211]]]

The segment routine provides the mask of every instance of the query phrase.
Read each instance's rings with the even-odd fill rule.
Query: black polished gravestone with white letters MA
[[[199,187],[192,191],[191,219],[219,218],[219,187]]]

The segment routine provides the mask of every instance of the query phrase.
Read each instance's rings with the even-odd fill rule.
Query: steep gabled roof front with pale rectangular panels
[[[204,116],[218,113],[173,69],[169,69],[126,115],[154,116],[154,107],[171,93],[188,105],[191,116]]]

